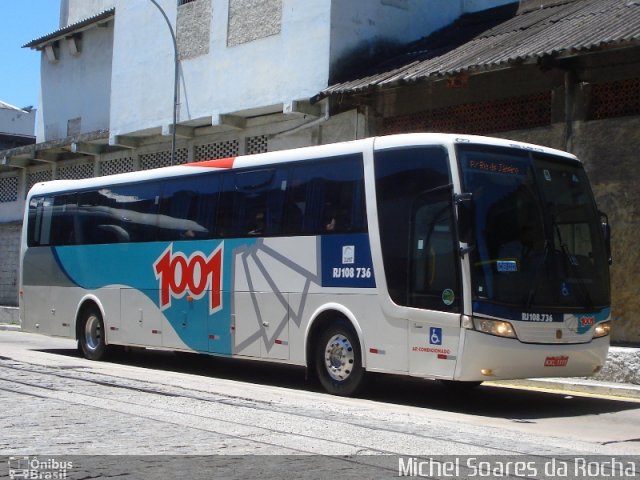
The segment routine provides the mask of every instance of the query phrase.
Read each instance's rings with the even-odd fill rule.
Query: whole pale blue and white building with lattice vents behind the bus
[[[41,55],[38,143],[0,152],[0,192],[12,192],[0,223],[21,218],[38,181],[170,163],[171,31],[183,163],[364,136],[364,109],[314,96],[394,46],[513,2],[157,0],[161,11],[151,0],[62,0],[60,29],[25,45]]]

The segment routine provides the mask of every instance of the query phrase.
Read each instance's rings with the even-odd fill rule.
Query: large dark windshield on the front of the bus
[[[474,309],[589,311],[609,304],[599,214],[582,165],[535,151],[458,147],[473,194]]]

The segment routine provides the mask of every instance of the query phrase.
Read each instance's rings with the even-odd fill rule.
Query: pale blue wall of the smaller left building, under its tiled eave
[[[61,41],[58,60],[41,53],[38,143],[109,128],[113,22],[85,30],[77,55]]]

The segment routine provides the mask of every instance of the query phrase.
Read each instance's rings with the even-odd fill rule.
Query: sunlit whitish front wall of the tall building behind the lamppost
[[[180,121],[215,121],[220,113],[308,98],[327,85],[329,0],[279,2],[281,8],[274,8],[273,1],[212,0],[208,54],[181,62]],[[168,125],[174,62],[167,25],[146,2],[116,3],[111,133]],[[160,3],[170,19],[176,18],[177,9],[189,6],[178,7],[175,0]],[[236,13],[230,13],[229,5]],[[250,6],[264,8],[254,22],[270,24],[274,32],[280,23],[279,33],[252,39],[231,31],[230,38],[230,14],[233,19]],[[245,19],[244,25],[251,21]]]

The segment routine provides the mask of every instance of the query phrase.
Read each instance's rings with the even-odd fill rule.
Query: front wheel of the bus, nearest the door
[[[333,395],[354,395],[364,384],[360,342],[351,325],[333,322],[320,333],[315,367],[322,387]]]

